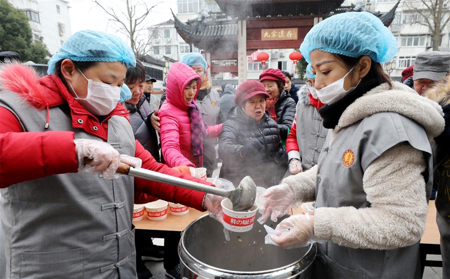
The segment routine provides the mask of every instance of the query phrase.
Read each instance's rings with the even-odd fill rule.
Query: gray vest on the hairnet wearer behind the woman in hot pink
[[[196,100],[200,116],[208,126],[214,126],[217,124],[217,118],[220,112],[219,93],[212,89],[203,100]],[[217,168],[216,160],[216,148],[218,143],[217,138],[205,138],[203,139],[203,166],[207,168],[208,175],[210,176],[214,169]]]

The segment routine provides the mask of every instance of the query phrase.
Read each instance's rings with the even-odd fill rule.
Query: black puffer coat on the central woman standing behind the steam
[[[259,154],[241,157],[241,148],[251,139],[264,146]],[[277,123],[266,112],[259,122],[249,118],[239,106],[230,111],[219,138],[219,157],[222,158],[220,177],[235,186],[247,175],[257,186],[270,187],[280,182],[287,168]]]

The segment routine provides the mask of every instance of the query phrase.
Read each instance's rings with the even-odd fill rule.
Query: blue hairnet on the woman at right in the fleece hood
[[[375,62],[388,62],[397,53],[397,40],[375,15],[352,11],[333,15],[314,25],[300,45],[308,63],[314,49],[350,57],[367,55]]]

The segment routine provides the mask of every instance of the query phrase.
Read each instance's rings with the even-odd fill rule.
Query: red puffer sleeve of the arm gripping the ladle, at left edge
[[[0,107],[0,115],[1,188],[52,174],[78,171],[73,132],[24,132],[10,110]]]

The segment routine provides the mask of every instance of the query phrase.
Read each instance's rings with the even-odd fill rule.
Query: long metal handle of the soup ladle
[[[85,164],[89,164],[89,162],[91,162],[91,161],[92,161],[91,159],[86,158],[86,157],[84,159]],[[179,187],[183,187],[183,188],[188,188],[191,190],[212,193],[215,195],[220,195],[220,196],[225,196],[225,197],[230,197],[231,192],[233,191],[233,190],[227,191],[227,190],[220,189],[217,187],[208,186],[208,185],[205,185],[202,183],[194,182],[191,180],[186,180],[186,179],[183,179],[180,177],[172,176],[172,175],[165,174],[165,173],[160,173],[160,172],[145,169],[145,168],[134,168],[131,165],[123,163],[123,162],[121,162],[119,164],[119,168],[117,169],[116,173],[131,175],[131,176],[138,177],[138,178],[148,179],[148,180],[157,181],[157,182],[161,182],[161,183],[167,183],[167,184],[171,184],[171,185],[175,185],[175,186],[179,186]]]

